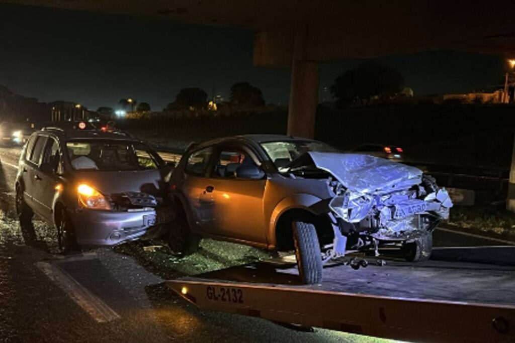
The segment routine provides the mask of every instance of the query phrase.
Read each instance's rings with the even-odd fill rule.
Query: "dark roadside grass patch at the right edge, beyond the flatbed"
[[[515,237],[515,213],[502,207],[454,207],[451,209],[449,224]]]

